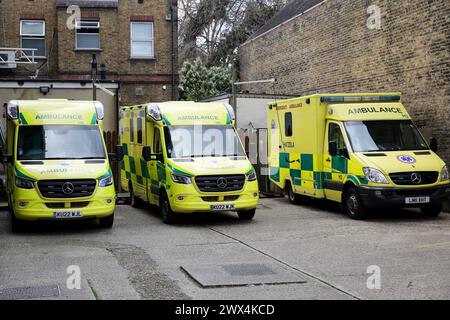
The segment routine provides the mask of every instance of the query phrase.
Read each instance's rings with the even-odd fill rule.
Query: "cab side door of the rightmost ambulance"
[[[348,148],[342,133],[342,127],[337,122],[330,122],[325,138],[324,157],[324,189],[329,200],[341,201],[344,181],[348,173]],[[330,142],[337,146],[337,154],[331,155]]]

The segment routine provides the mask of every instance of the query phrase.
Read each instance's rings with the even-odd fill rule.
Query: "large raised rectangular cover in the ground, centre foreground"
[[[297,272],[277,264],[191,265],[181,266],[181,269],[203,288],[306,283]]]

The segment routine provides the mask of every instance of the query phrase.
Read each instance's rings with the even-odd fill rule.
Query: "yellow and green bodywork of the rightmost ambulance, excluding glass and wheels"
[[[292,121],[290,121],[292,119]],[[344,127],[350,121],[411,120],[400,93],[323,94],[299,97],[269,104],[270,179],[282,189],[289,183],[294,192],[314,198],[341,202],[346,185],[392,190],[418,190],[444,187],[448,181],[419,186],[398,185],[394,173],[438,172],[445,163],[431,150],[389,151],[373,157],[352,152]],[[291,133],[287,126],[292,123]],[[332,157],[328,150],[331,124],[342,132],[349,157]],[[419,151],[422,151],[419,152]],[[399,159],[408,157],[414,163]],[[380,170],[389,184],[370,182],[363,168]],[[450,189],[449,189],[450,190]]]

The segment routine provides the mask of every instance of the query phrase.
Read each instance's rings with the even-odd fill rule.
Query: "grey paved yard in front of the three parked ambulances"
[[[369,266],[380,289],[368,288]],[[449,270],[449,214],[353,221],[325,202],[262,199],[252,222],[219,213],[167,226],[125,205],[112,230],[36,223],[12,234],[0,212],[0,299],[449,299]]]

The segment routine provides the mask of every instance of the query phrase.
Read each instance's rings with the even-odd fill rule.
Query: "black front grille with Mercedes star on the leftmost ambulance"
[[[96,180],[41,180],[39,191],[45,198],[84,198],[91,196],[97,185]],[[63,190],[64,189],[64,190]],[[72,192],[70,192],[73,190]]]

